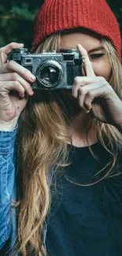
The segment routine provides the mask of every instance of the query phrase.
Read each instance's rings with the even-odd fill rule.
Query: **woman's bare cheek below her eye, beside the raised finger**
[[[108,61],[92,62],[92,67],[96,76],[103,76],[105,80],[109,81],[111,67]]]

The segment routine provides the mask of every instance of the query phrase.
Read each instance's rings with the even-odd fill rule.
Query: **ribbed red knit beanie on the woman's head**
[[[120,29],[105,0],[45,0],[35,18],[34,51],[55,32],[87,28],[110,39],[121,56]]]

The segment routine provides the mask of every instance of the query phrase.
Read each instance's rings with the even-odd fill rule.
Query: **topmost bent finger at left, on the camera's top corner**
[[[8,45],[0,48],[0,65],[6,63],[9,54],[13,49],[23,48],[23,43],[9,43]]]

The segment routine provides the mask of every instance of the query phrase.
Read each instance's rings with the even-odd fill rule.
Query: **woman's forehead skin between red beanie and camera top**
[[[80,43],[87,51],[92,48],[102,46],[102,40],[93,35],[74,32],[66,35],[61,35],[60,49],[74,49]]]

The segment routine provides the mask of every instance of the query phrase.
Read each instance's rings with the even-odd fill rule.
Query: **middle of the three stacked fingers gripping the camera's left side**
[[[33,95],[33,90],[31,89],[30,83],[28,83],[27,80],[24,80],[23,77],[21,77],[16,72],[13,73],[6,73],[0,75],[0,81],[18,81],[25,89],[28,95]]]

